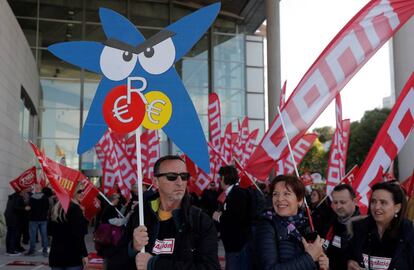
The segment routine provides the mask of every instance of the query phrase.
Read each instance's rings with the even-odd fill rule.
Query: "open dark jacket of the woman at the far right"
[[[386,246],[395,246],[390,249],[394,251],[388,269],[412,270],[414,269],[414,225],[408,219],[404,219],[397,235],[391,239],[386,239],[386,233],[381,241],[388,241]],[[362,220],[352,222],[350,244],[348,246],[348,259],[354,260],[362,265],[364,247],[371,250],[371,254],[378,252],[378,245],[369,245],[373,242],[373,237],[378,236],[377,226],[372,217],[366,217]]]

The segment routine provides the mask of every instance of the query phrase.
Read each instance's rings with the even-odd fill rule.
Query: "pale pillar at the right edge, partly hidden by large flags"
[[[400,95],[407,79],[414,72],[414,17],[393,38],[393,68],[395,98]],[[414,134],[411,134],[398,154],[399,179],[405,180],[414,169]]]

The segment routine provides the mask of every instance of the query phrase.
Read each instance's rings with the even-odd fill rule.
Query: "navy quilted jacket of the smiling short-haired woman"
[[[302,242],[288,234],[280,217],[266,213],[254,228],[255,268],[262,270],[313,270],[317,264]]]

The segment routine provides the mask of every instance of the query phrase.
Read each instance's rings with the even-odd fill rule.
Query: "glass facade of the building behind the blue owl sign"
[[[46,155],[77,169],[99,169],[91,150],[76,153],[80,129],[100,76],[67,64],[47,51],[65,41],[104,41],[99,7],[129,18],[146,37],[194,9],[173,1],[133,0],[9,0],[38,63],[41,78],[38,143]],[[246,115],[245,35],[235,19],[219,17],[214,27],[176,64],[207,135],[208,93],[221,99],[222,125]],[[162,152],[174,149],[162,134]],[[174,150],[173,150],[174,151]]]

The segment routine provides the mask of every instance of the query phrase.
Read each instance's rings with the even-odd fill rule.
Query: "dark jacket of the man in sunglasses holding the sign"
[[[181,208],[172,212],[177,229],[175,248],[172,256],[154,255],[149,262],[148,270],[180,269],[180,270],[216,270],[218,262],[217,232],[213,221],[201,209],[190,205],[186,195]],[[145,251],[151,253],[157,238],[160,221],[158,218],[159,194],[151,194],[144,200],[144,220],[147,227],[149,243]],[[106,259],[108,270],[136,269],[136,251],[132,245],[132,235],[139,226],[138,207],[134,209],[125,232],[116,247],[108,248],[102,253]]]

